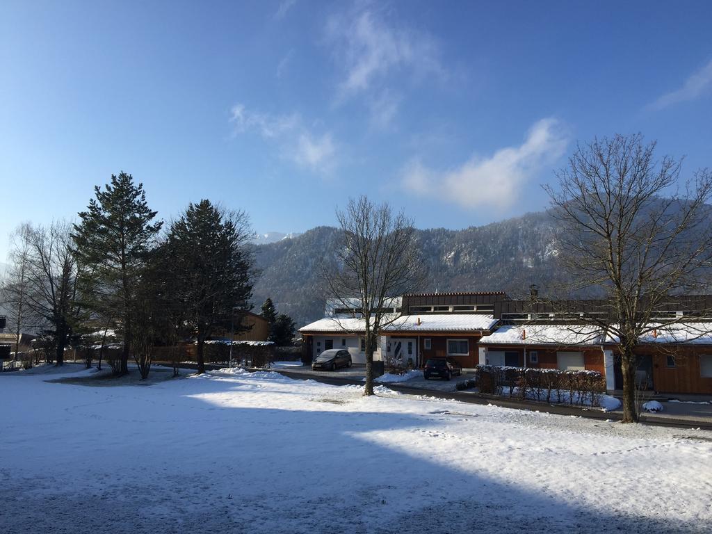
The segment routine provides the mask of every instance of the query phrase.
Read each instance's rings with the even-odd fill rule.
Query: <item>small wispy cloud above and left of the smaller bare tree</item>
[[[256,132],[274,142],[282,157],[300,167],[326,174],[336,167],[336,143],[331,132],[311,131],[297,113],[271,115],[248,110],[239,103],[230,110],[230,122],[236,133]]]

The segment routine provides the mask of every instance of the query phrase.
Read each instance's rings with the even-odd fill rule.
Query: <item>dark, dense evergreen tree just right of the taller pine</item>
[[[247,311],[252,295],[251,231],[246,214],[229,213],[201,200],[189,204],[168,234],[174,300],[197,334],[198,372],[204,372],[204,342],[228,328],[234,313]],[[244,330],[238,325],[237,330]]]

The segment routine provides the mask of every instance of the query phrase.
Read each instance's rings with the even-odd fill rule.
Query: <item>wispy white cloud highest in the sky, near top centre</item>
[[[337,101],[358,94],[372,97],[370,90],[386,86],[391,75],[444,74],[434,38],[390,23],[384,9],[357,4],[347,13],[330,18],[326,34],[342,71]]]

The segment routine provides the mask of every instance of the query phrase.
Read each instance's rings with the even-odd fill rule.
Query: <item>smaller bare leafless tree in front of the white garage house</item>
[[[422,261],[412,221],[402,211],[394,214],[388,204],[377,205],[363,196],[351,199],[345,211],[337,211],[337,219],[342,243],[336,266],[325,268],[324,278],[331,298],[345,308],[354,301],[360,307],[366,345],[364,394],[372,395],[377,340],[397,320],[387,308],[393,297],[422,286]]]

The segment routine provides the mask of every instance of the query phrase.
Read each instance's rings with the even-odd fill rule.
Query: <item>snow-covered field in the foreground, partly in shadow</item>
[[[47,378],[0,375],[3,534],[712,530],[704,431],[272,372]]]

